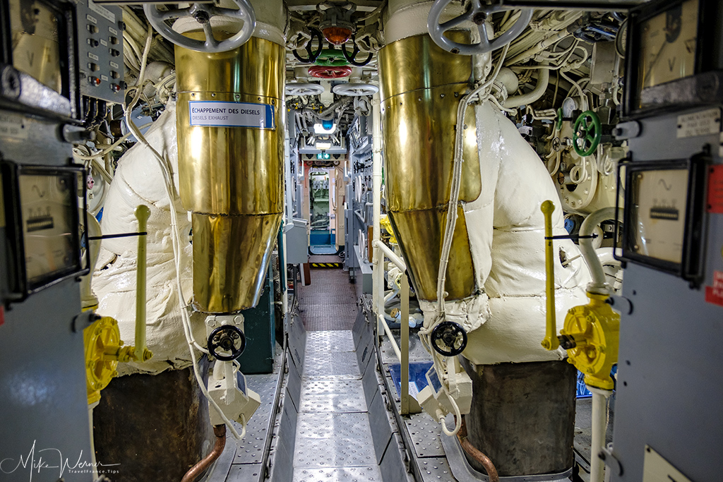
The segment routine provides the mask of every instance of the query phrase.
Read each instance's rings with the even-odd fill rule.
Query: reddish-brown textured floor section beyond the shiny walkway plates
[[[348,272],[312,269],[311,284],[299,286],[299,315],[309,332],[351,330],[356,319],[356,291]]]

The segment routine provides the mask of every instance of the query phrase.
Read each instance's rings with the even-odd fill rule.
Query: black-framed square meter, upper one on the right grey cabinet
[[[651,1],[630,13],[626,117],[723,100],[715,24],[721,10],[715,0],[673,0]]]

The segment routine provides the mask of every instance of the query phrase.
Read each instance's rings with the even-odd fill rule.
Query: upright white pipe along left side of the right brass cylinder
[[[374,228],[372,247],[374,262],[373,275],[373,303],[377,315],[384,314],[384,259],[380,254],[376,241],[380,241],[382,228],[382,114],[380,111],[380,97],[377,92],[372,100],[372,204],[374,207]]]

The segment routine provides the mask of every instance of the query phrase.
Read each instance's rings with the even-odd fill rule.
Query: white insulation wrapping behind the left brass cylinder
[[[171,160],[174,184],[178,189],[178,158],[176,147],[176,109],[169,104],[145,134],[146,139],[161,155]],[[176,191],[177,192],[177,191]],[[168,368],[183,368],[190,362],[189,350],[181,324],[181,311],[176,290],[176,267],[171,243],[171,211],[163,187],[158,161],[140,142],[120,160],[114,181],[108,191],[103,209],[104,234],[138,231],[134,216],[137,205],[150,208],[147,238],[147,347],[153,358],[146,363],[119,363],[119,374],[134,372],[159,373]],[[174,208],[178,215],[181,239],[189,233],[191,223],[176,194]],[[93,275],[93,291],[100,301],[98,314],[118,320],[121,339],[134,344],[136,237],[104,239],[100,259]],[[181,283],[184,297],[192,296],[192,248],[181,249]],[[202,328],[202,324],[200,324]],[[200,332],[203,332],[203,328]]]

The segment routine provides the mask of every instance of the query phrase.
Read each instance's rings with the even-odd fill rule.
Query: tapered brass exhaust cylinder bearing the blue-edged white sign
[[[223,53],[176,46],[176,76],[180,194],[193,213],[194,308],[234,313],[257,304],[283,215],[284,48],[256,37]],[[266,104],[275,126],[192,126],[193,101]]]

